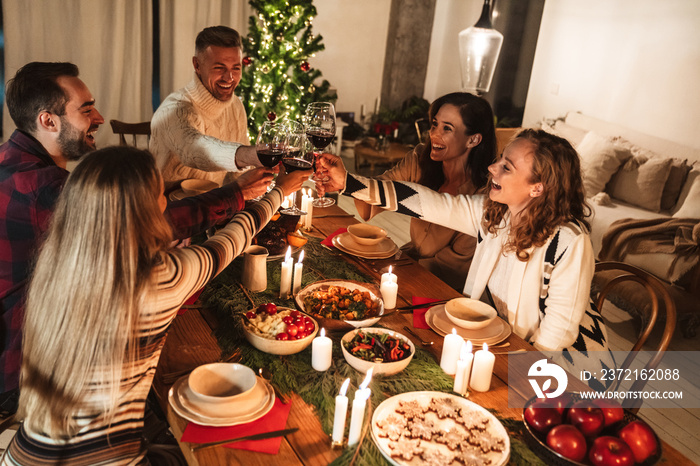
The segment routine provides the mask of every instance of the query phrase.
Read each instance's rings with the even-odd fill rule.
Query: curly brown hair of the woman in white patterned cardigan
[[[586,217],[591,208],[586,204],[578,153],[566,139],[546,131],[525,129],[513,140],[524,139],[534,146],[530,183],[542,183],[542,195],[530,200],[520,213],[518,222],[511,226],[506,250],[515,251],[520,260],[526,261],[527,250],[547,242],[556,228],[569,222],[577,222],[584,230],[590,230]],[[508,212],[508,206],[487,199],[484,211],[484,228],[495,233]]]

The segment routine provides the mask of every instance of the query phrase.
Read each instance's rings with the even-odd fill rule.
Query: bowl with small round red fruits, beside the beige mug
[[[267,303],[245,313],[243,330],[246,340],[260,351],[295,354],[311,344],[318,323],[296,309]]]

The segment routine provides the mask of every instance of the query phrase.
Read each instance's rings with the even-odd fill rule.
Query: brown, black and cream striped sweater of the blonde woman
[[[119,406],[111,424],[107,424],[99,407],[101,392],[95,387],[75,413],[81,426],[77,435],[67,440],[51,439],[23,424],[0,465],[148,464],[141,436],[146,397],[170,323],[190,295],[250,245],[253,236],[277,210],[282,197],[279,188],[272,190],[260,202],[236,214],[203,245],[169,251],[165,260],[154,268],[155,302],[139,316],[138,359],[124,368]]]

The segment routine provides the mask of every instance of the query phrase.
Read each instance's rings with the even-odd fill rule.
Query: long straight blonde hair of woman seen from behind
[[[84,157],[58,197],[29,285],[19,415],[35,432],[70,437],[97,391],[111,420],[122,367],[137,359],[139,311],[168,248],[153,156],[109,147]],[[93,396],[94,398],[94,396]]]

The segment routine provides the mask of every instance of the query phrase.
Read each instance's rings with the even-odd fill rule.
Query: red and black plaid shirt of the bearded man
[[[24,288],[38,241],[67,177],[68,171],[26,133],[15,131],[0,146],[0,393],[19,385]],[[238,187],[228,185],[169,202],[165,216],[175,238],[184,239],[223,223],[244,204]]]

